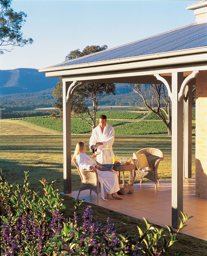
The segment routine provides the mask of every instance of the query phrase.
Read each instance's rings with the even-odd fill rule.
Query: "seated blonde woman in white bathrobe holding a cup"
[[[81,170],[88,170],[91,169],[92,171],[97,171],[100,188],[101,188],[101,196],[104,199],[104,191],[107,193],[107,199],[123,199],[117,194],[119,191],[119,181],[116,173],[109,172],[109,171],[99,171],[96,169],[96,161],[94,158],[96,157],[95,154],[90,158],[85,154],[86,152],[86,145],[83,141],[80,141],[76,144],[75,152],[72,158],[76,160],[78,166]],[[104,199],[105,200],[105,199]],[[106,200],[107,201],[107,200]]]

